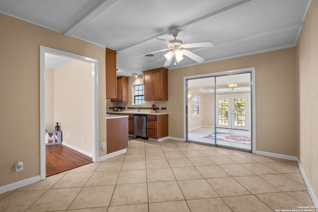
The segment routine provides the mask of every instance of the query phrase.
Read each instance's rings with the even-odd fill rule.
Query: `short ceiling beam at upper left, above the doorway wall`
[[[100,13],[104,12],[116,1],[117,0],[103,0],[100,3],[96,4],[88,12],[81,16],[79,20],[72,24],[63,34],[66,36],[71,36],[76,29],[80,28],[81,26],[85,25],[86,23],[97,17]]]

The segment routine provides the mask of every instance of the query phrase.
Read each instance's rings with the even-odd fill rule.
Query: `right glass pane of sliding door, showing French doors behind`
[[[250,73],[216,77],[216,145],[251,150]]]

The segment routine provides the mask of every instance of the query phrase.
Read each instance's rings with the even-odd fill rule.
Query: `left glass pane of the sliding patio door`
[[[187,141],[215,144],[214,99],[214,77],[187,80]]]

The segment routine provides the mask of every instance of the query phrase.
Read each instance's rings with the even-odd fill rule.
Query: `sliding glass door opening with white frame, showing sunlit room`
[[[256,150],[254,72],[248,68],[184,77],[186,141]]]

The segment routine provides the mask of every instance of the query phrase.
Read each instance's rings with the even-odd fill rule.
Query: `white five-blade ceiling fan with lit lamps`
[[[171,62],[173,61],[174,58],[174,65],[176,63],[179,63],[182,59],[183,56],[187,56],[188,58],[191,58],[192,60],[202,63],[204,61],[204,58],[200,57],[199,55],[194,54],[193,52],[190,52],[187,50],[188,48],[199,48],[199,47],[212,47],[214,46],[211,41],[203,41],[203,42],[196,42],[196,43],[187,43],[183,44],[181,40],[177,40],[176,36],[178,36],[179,30],[172,30],[171,34],[174,37],[173,40],[166,41],[164,39],[157,38],[158,40],[162,41],[163,43],[167,44],[167,49],[161,49],[159,51],[147,53],[141,56],[147,56],[153,53],[157,52],[163,52],[170,50],[168,53],[164,55],[166,58],[166,61],[163,66],[170,66]],[[141,57],[138,56],[138,57]]]

